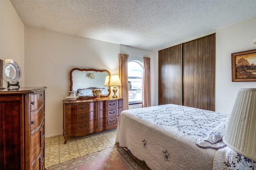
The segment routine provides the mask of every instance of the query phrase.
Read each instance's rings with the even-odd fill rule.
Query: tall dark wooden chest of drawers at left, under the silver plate
[[[44,170],[45,89],[0,89],[1,170]]]

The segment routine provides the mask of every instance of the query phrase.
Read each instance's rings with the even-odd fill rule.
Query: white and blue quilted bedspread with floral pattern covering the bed
[[[196,139],[230,115],[180,105],[122,111],[116,143],[127,147],[152,170],[212,170],[216,149],[201,148]]]

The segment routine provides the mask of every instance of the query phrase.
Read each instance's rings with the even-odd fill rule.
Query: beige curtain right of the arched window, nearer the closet
[[[150,84],[150,58],[143,57],[143,88],[142,88],[142,107],[151,106],[151,84]]]

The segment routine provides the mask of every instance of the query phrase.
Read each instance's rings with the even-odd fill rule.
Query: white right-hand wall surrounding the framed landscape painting
[[[239,88],[256,82],[232,82],[231,54],[256,49],[256,17],[216,30],[216,111],[230,114]]]

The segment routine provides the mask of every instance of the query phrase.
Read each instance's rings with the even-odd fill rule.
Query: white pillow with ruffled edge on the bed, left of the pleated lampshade
[[[210,131],[208,136],[196,139],[196,145],[201,148],[213,149],[220,149],[226,147],[226,144],[222,141],[222,137],[224,136],[227,125],[228,120],[220,123],[220,125],[216,126]]]

